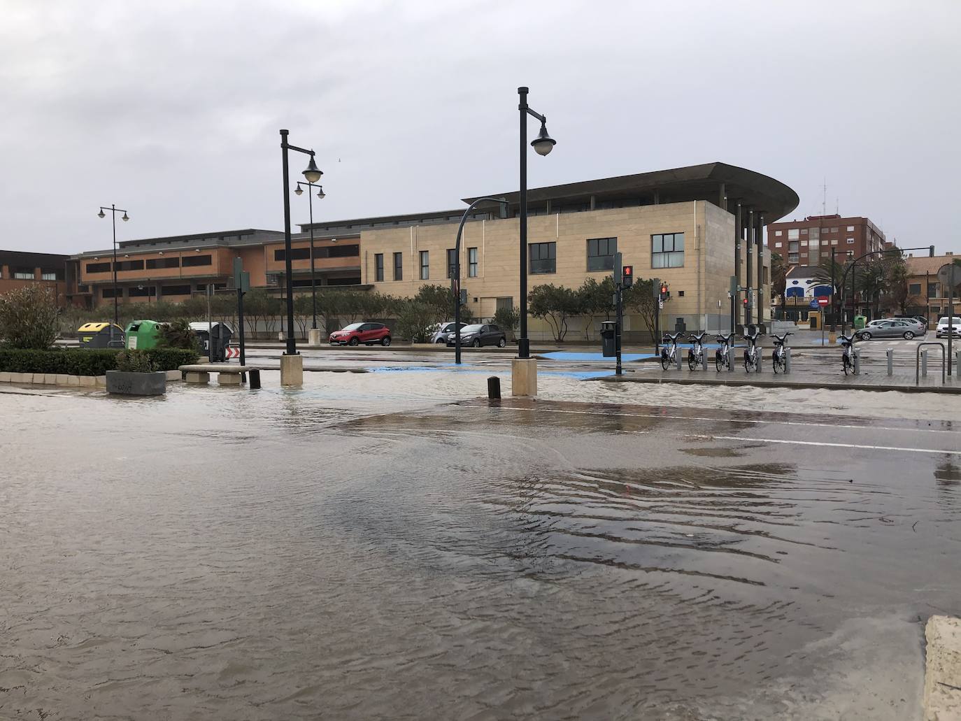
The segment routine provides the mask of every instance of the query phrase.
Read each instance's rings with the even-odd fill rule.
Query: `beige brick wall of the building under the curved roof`
[[[462,287],[475,314],[494,313],[496,299],[510,297],[519,303],[519,248],[517,218],[468,222],[461,241]],[[456,223],[401,228],[377,228],[361,234],[361,283],[372,284],[384,293],[410,296],[425,284],[447,285],[447,249],[455,247]],[[651,236],[658,233],[684,234],[684,266],[651,267]],[[625,264],[634,266],[638,279],[656,277],[671,288],[672,298],[664,313],[673,328],[674,318],[683,316],[689,330],[707,321],[714,330],[723,316],[727,327],[728,279],[734,261],[734,219],[727,211],[705,201],[672,203],[638,208],[535,215],[528,219],[528,242],[556,242],[556,272],[528,276],[529,287],[553,283],[578,287],[586,278],[601,281],[609,271],[587,271],[587,239],[616,237]],[[467,249],[478,248],[478,276],[468,277]],[[420,280],[420,251],[430,253],[430,279]],[[393,254],[404,254],[404,280],[393,281]],[[384,281],[375,282],[375,255],[383,254]],[[680,296],[683,291],[684,295]],[[476,299],[476,300],[475,300]],[[722,307],[718,308],[718,301]],[[536,325],[536,327],[535,327]],[[637,318],[628,319],[626,330],[643,330]],[[544,331],[531,326],[531,337]],[[583,337],[579,323],[572,324],[571,339]],[[592,334],[591,337],[594,337]]]

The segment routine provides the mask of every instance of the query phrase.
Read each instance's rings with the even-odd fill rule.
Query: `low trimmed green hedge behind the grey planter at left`
[[[62,373],[69,376],[102,376],[115,370],[115,348],[62,348],[47,351],[0,348],[0,373]],[[196,362],[197,354],[180,348],[150,348],[145,351],[158,370],[176,370]]]

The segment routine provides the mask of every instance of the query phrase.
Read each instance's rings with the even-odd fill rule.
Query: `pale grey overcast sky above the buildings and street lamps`
[[[111,203],[119,239],[282,230],[281,128],[318,220],[457,208],[516,189],[527,85],[532,187],[721,161],[789,219],[826,178],[828,212],[961,251],[959,28],[958,0],[0,0],[0,248],[107,248]]]

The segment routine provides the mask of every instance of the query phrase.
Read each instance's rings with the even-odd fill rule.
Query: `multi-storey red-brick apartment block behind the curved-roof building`
[[[808,215],[768,225],[768,248],[789,265],[820,265],[833,251],[836,261],[860,258],[890,244],[868,218]]]

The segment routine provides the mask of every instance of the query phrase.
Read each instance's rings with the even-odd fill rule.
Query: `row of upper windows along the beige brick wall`
[[[587,270],[589,272],[613,270],[614,254],[617,253],[616,237],[587,238]],[[404,254],[394,253],[393,280],[404,280]],[[529,243],[529,272],[531,275],[557,272],[557,243]],[[420,280],[431,279],[431,251],[422,250],[420,260]],[[651,236],[651,267],[679,268],[684,265],[684,234],[661,233]],[[374,282],[382,283],[383,253],[374,254]],[[454,248],[447,249],[447,277],[453,278],[456,268]],[[477,278],[478,249],[467,249],[467,277]]]

